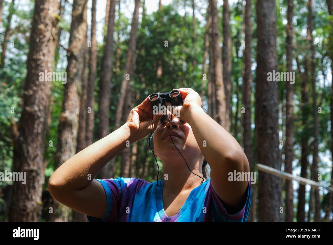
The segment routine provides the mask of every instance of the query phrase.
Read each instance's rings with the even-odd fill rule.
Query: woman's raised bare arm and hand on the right
[[[229,206],[240,205],[249,180],[229,181],[228,174],[234,174],[234,171],[249,172],[243,149],[228,131],[203,111],[198,93],[190,88],[178,90],[184,98],[183,106],[178,108],[180,119],[191,126],[201,152],[210,166],[210,181],[215,193]]]

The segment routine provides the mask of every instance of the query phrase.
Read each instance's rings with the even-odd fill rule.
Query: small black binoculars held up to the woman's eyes
[[[181,94],[178,90],[172,90],[167,93],[154,93],[149,96],[149,101],[152,107],[160,110],[162,106],[167,106],[167,103],[170,103],[172,106],[183,105],[184,100],[181,97]],[[167,123],[170,121],[169,115],[163,115],[160,119],[161,123]]]

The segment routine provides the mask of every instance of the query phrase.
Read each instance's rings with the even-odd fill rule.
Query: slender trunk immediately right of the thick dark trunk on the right
[[[287,56],[287,72],[292,72],[292,51],[293,51],[293,0],[288,0],[287,19],[288,23],[286,26],[287,40],[286,40],[286,56]],[[289,73],[289,74],[290,74]],[[294,87],[290,82],[286,82],[286,143],[285,143],[285,172],[292,173],[292,160],[294,157],[293,153],[293,137],[294,137],[294,106],[293,106],[293,94]],[[285,180],[285,191],[286,191],[286,219],[285,222],[293,222],[294,219],[294,193],[291,180]]]

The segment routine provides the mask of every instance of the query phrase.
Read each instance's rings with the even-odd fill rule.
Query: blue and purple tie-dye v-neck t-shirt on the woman
[[[244,206],[228,214],[207,179],[190,192],[176,215],[168,217],[162,202],[163,180],[159,180],[162,186],[137,178],[97,180],[104,187],[107,210],[103,219],[88,215],[90,222],[245,222],[251,204],[249,181]]]

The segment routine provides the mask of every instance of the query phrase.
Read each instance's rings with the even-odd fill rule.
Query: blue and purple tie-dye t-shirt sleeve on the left
[[[107,208],[103,219],[87,215],[89,222],[117,222],[119,217],[120,202],[134,178],[96,179],[99,181],[107,197]]]

